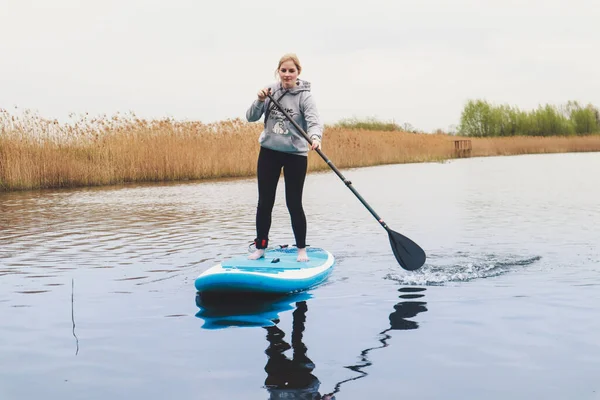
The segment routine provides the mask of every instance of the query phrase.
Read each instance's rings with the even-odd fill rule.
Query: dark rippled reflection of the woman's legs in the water
[[[269,399],[330,400],[332,395],[319,393],[319,379],[312,374],[315,364],[306,355],[306,346],[302,342],[304,322],[308,307],[305,301],[296,303],[292,322],[292,359],[285,351],[290,345],[283,340],[285,333],[277,325],[265,328],[269,347],[265,351],[268,360],[265,366],[267,379],[265,386]],[[278,322],[277,320],[274,322]]]

